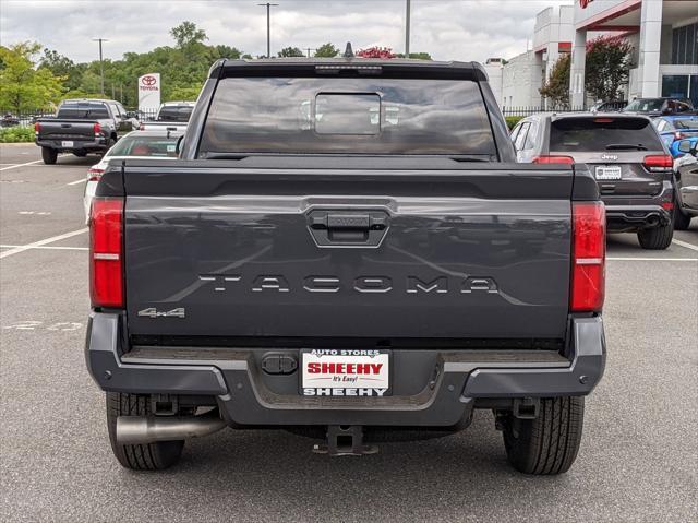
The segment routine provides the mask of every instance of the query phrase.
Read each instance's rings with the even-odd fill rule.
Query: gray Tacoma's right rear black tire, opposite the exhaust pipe
[[[535,419],[504,420],[504,448],[509,463],[534,475],[562,474],[577,457],[585,418],[581,396],[541,400]]]

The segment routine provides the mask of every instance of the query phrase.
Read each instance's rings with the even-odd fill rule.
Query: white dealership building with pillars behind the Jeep
[[[633,45],[627,99],[674,96],[698,106],[698,0],[574,0],[535,19],[532,48],[506,63],[489,61],[493,91],[503,107],[541,107],[539,88],[559,57],[571,54],[570,105],[585,95],[587,41],[623,35]]]

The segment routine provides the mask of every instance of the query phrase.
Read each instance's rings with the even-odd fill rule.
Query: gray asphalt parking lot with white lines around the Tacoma
[[[111,455],[83,359],[81,180],[97,161],[39,157],[0,145],[0,520],[696,521],[698,219],[666,251],[609,239],[606,372],[566,475],[509,468],[485,412],[465,432],[359,459],[225,430],[188,442],[172,469],[136,474]]]

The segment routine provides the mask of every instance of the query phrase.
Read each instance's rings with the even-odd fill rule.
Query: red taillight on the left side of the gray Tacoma
[[[89,294],[93,307],[123,307],[123,200],[95,198],[89,218]]]

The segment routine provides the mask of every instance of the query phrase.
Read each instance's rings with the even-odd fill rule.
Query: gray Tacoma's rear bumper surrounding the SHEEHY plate
[[[279,392],[258,365],[261,349],[136,347],[124,354],[120,317],[111,313],[92,314],[85,357],[105,391],[215,396],[236,425],[447,427],[467,419],[479,403],[486,406],[483,400],[589,394],[605,366],[603,322],[575,319],[571,329],[568,356],[521,349],[394,350],[394,390],[413,387],[418,376],[424,384],[410,394],[383,397],[302,396],[298,371],[282,378],[296,383],[296,391]]]

